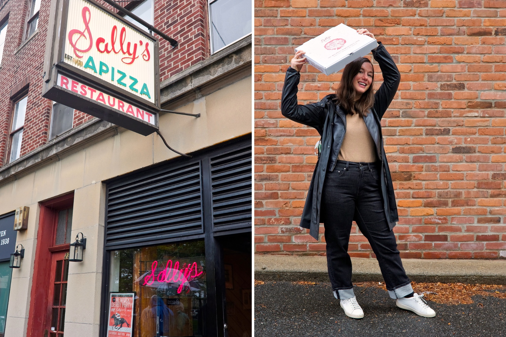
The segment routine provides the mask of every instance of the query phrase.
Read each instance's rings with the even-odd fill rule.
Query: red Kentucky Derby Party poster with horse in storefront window
[[[134,292],[111,292],[107,337],[132,337]]]

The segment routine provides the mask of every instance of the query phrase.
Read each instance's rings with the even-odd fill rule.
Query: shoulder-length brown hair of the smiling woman
[[[368,110],[374,105],[374,92],[372,91],[372,86],[374,85],[374,68],[372,70],[372,82],[370,87],[356,102],[354,102],[355,88],[353,87],[353,79],[360,71],[364,62],[371,63],[371,61],[365,57],[348,63],[343,70],[343,76],[341,77],[339,87],[335,90],[336,103],[341,105],[345,113],[353,114],[353,111],[356,111],[361,117],[366,116]]]

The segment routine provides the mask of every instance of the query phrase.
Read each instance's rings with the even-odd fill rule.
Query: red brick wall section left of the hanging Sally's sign
[[[49,1],[40,6],[38,33],[19,51],[24,36],[27,4],[24,0],[11,0],[0,10],[0,20],[9,15],[9,26],[0,68],[0,165],[4,165],[6,144],[9,140],[13,102],[11,95],[28,83],[21,155],[47,142],[51,103],[40,97],[46,48],[46,28],[49,20]],[[17,51],[17,53],[16,53]],[[22,86],[19,85],[22,83]]]

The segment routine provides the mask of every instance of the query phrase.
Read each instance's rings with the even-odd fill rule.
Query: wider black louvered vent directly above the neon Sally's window
[[[203,232],[200,161],[108,186],[106,248]]]

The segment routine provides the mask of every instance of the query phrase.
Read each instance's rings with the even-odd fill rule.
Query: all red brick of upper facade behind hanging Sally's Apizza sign
[[[0,9],[0,20],[9,15],[0,68],[0,166],[6,163],[8,152],[13,112],[11,96],[22,89],[25,82],[29,85],[29,91],[21,155],[46,144],[49,137],[51,101],[41,97],[40,93],[50,1],[41,2],[38,33],[17,51],[23,43],[26,3],[27,0],[10,0]],[[111,6],[102,4],[111,9]],[[206,0],[155,0],[154,11],[154,26],[179,41],[179,46],[173,49],[168,41],[155,34],[159,40],[160,80],[209,56]],[[19,83],[23,83],[23,86]],[[73,127],[92,118],[93,116],[75,111]]]

